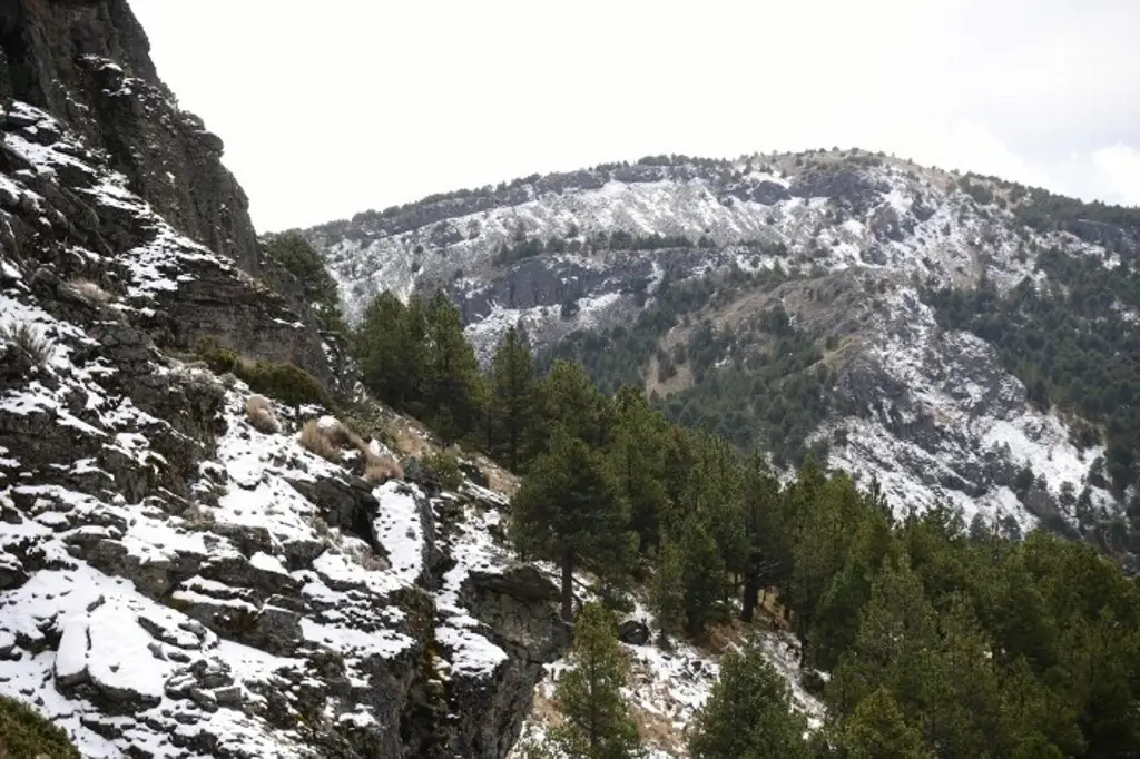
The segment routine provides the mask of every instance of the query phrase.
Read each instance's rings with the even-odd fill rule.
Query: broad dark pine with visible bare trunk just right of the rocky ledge
[[[629,506],[605,458],[563,429],[531,462],[511,499],[511,533],[528,556],[562,568],[562,618],[572,619],[573,571],[586,564],[603,578],[626,574],[636,552]]]

